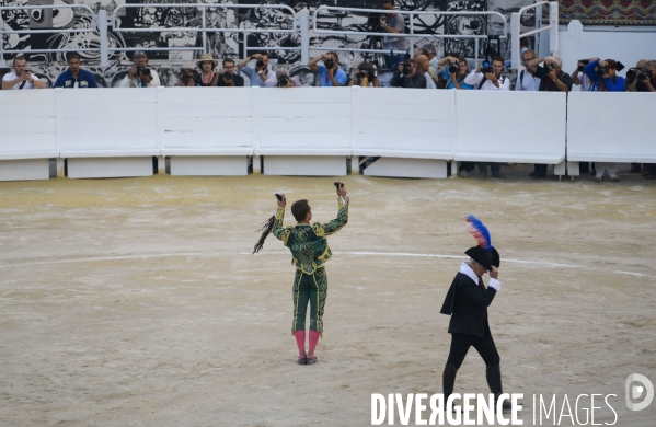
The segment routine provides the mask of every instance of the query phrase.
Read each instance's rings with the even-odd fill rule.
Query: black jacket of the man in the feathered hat
[[[483,290],[468,275],[458,273],[440,310],[440,313],[451,315],[449,334],[485,336],[490,332],[487,307],[495,295],[494,288]]]

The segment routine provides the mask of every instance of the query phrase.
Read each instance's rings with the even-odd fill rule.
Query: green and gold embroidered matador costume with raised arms
[[[327,276],[324,264],[333,256],[326,236],[342,230],[348,221],[348,198],[337,196],[337,218],[329,223],[297,223],[283,227],[285,209],[278,208],[274,221],[274,235],[289,247],[291,264],[296,266],[294,277],[294,322],[295,331],[306,330],[306,312],[310,301],[310,330],[323,333],[323,307],[327,295]],[[323,334],[322,334],[323,335]]]

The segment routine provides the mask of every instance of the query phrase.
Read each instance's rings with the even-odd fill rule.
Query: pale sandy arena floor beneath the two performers
[[[656,383],[656,183],[508,174],[343,178],[311,367],[296,365],[290,255],[273,236],[251,251],[274,193],[327,221],[334,180],[0,183],[0,425],[368,426],[371,393],[441,392],[439,308],[474,214],[502,254],[490,316],[525,425],[532,394],[612,393],[615,425],[654,426],[656,402],[628,411],[624,380]],[[487,392],[473,349],[456,392]]]

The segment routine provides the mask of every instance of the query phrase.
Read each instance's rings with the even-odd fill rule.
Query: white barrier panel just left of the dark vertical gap
[[[566,102],[561,92],[458,91],[454,159],[561,163]]]

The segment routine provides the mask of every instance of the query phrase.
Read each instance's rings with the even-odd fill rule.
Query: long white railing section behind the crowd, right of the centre
[[[410,25],[408,25],[408,30],[410,30],[410,34],[406,33],[380,33],[380,32],[370,32],[370,31],[343,31],[343,30],[325,30],[325,28],[319,28],[317,26],[319,20],[321,19],[320,16],[320,12],[323,11],[346,11],[346,12],[350,12],[353,14],[365,14],[366,16],[368,16],[371,13],[379,13],[379,14],[390,14],[390,13],[398,13],[400,15],[406,15],[410,16]],[[394,10],[394,11],[390,11],[387,9],[359,9],[359,8],[339,8],[339,7],[329,7],[329,5],[321,5],[319,8],[317,8],[317,10],[314,10],[314,20],[313,20],[313,25],[312,25],[312,31],[315,34],[345,34],[345,35],[361,35],[361,36],[377,36],[377,37],[404,37],[404,38],[410,38],[410,43],[411,46],[414,45],[414,38],[417,37],[434,37],[434,38],[473,38],[474,39],[474,44],[475,44],[475,62],[476,62],[476,67],[479,66],[479,41],[480,39],[486,39],[487,38],[487,34],[436,34],[436,33],[415,33],[415,16],[494,16],[494,18],[498,18],[499,22],[503,23],[503,31],[502,34],[498,36],[499,38],[507,38],[506,34],[507,32],[507,23],[506,23],[506,18],[499,13],[499,12],[493,12],[493,11],[484,11],[484,12],[477,12],[477,11],[454,11],[454,12],[441,12],[441,11],[399,11],[399,10]],[[490,23],[488,23],[490,25]],[[485,33],[487,33],[487,31],[485,31]],[[390,51],[394,53],[394,54],[400,54],[400,53],[405,53],[407,50],[388,50],[388,49],[352,49],[352,48],[334,48],[334,47],[312,47],[312,50],[345,50],[345,51],[360,51],[360,53],[378,53],[378,54],[389,54]],[[410,54],[411,56],[414,56],[414,49],[411,48],[410,49]]]

